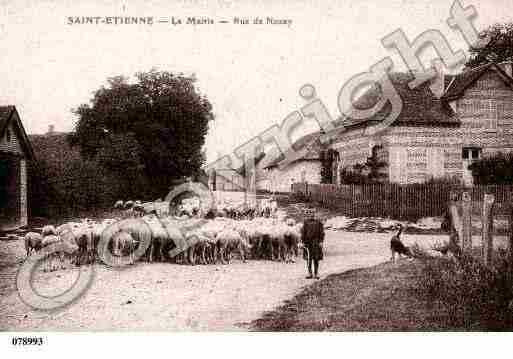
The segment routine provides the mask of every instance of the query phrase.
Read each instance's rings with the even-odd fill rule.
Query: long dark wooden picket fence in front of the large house
[[[446,184],[368,184],[331,185],[295,183],[292,192],[305,201],[338,209],[350,217],[387,217],[415,220],[442,216],[448,208],[450,193],[468,192],[472,211],[480,213],[485,193],[495,196],[495,213],[507,214],[513,186],[474,186],[469,188]]]

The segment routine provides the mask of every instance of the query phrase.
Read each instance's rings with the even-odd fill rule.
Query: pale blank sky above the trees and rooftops
[[[477,29],[513,21],[513,1],[461,1],[474,5]],[[1,1],[0,105],[16,105],[28,133],[72,131],[72,109],[88,103],[108,77],[151,68],[195,74],[215,120],[206,138],[207,162],[233,151],[305,101],[312,84],[333,117],[337,97],[353,75],[398,54],[380,40],[402,29],[410,40],[440,30],[452,48],[466,50],[449,28],[449,0],[361,1]],[[510,15],[508,15],[510,14]],[[69,24],[76,16],[209,17],[214,25]],[[289,25],[234,24],[234,17],[292,20]],[[219,23],[218,21],[228,21]],[[427,65],[435,56],[422,54]],[[317,129],[313,122],[293,138]]]

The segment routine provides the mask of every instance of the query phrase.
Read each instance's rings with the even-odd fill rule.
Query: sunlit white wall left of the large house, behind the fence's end
[[[318,160],[296,161],[280,169],[273,167],[267,170],[265,179],[257,182],[257,188],[269,192],[290,192],[294,182],[321,182],[321,162]]]

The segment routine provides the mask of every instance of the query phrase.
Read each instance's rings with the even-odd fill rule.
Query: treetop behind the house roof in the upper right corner
[[[467,67],[474,68],[494,62],[513,60],[513,23],[494,24],[479,33],[484,46],[470,47]]]

